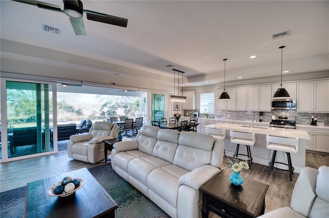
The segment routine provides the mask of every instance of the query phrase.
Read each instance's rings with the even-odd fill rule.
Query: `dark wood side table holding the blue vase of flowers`
[[[241,186],[235,186],[229,179],[230,174],[231,170],[222,170],[199,188],[203,192],[202,217],[208,217],[209,211],[223,218],[249,218],[264,214],[269,186],[246,177]]]

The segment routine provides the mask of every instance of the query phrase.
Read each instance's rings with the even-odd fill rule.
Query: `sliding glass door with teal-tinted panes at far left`
[[[6,82],[7,125],[2,128],[7,127],[8,158],[53,151],[52,93],[51,84]]]

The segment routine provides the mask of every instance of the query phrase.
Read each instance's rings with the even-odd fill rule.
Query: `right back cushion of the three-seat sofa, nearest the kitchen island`
[[[211,135],[180,132],[173,164],[189,171],[210,164],[213,144]]]

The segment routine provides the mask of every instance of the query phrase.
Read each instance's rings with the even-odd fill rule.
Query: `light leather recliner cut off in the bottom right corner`
[[[304,167],[295,184],[290,207],[265,213],[262,218],[329,217],[329,167]]]

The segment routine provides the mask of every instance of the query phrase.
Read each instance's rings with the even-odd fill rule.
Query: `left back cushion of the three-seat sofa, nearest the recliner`
[[[142,126],[139,130],[136,141],[138,141],[138,150],[152,155],[152,151],[157,142],[157,134],[160,128],[156,126]]]

